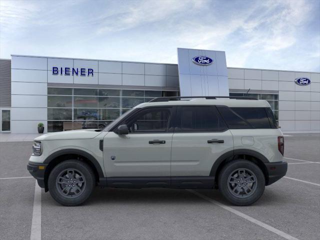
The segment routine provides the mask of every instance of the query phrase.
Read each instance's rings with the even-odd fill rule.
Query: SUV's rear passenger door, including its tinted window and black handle
[[[209,176],[214,161],[233,150],[232,134],[215,106],[180,106],[172,137],[171,176]]]

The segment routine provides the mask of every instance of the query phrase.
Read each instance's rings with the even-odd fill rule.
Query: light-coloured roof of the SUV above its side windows
[[[266,100],[247,100],[247,99],[229,99],[229,98],[193,98],[189,100],[173,100],[173,101],[155,101],[144,102],[136,105],[135,108],[146,106],[174,106],[174,105],[225,105],[229,107],[270,107]]]

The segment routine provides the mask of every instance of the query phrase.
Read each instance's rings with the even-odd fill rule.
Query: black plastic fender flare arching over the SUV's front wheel
[[[102,168],[101,168],[99,162],[95,159],[95,157],[92,156],[90,153],[88,153],[84,150],[80,150],[80,149],[71,148],[71,149],[62,149],[62,150],[55,151],[51,155],[47,156],[45,158],[45,160],[43,161],[43,163],[49,163],[54,158],[56,158],[58,156],[66,155],[66,154],[76,154],[76,155],[81,155],[81,156],[87,158],[95,167],[95,169],[98,173],[98,177],[99,178],[104,177]]]

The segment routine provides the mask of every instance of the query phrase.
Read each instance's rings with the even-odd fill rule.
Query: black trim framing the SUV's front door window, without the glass
[[[115,131],[116,128],[119,125],[124,124],[124,122],[130,122],[132,118],[134,118],[137,114],[139,114],[141,111],[144,111],[146,109],[150,108],[166,108],[169,111],[169,118],[168,118],[168,124],[166,127],[166,131],[149,131],[149,132],[129,132],[129,134],[149,134],[149,133],[173,133],[173,120],[175,119],[176,115],[176,107],[174,105],[157,105],[157,106],[146,106],[142,108],[136,108],[137,110],[133,111],[131,114],[129,114],[125,119],[122,119],[118,124],[116,124],[112,129],[109,131]]]

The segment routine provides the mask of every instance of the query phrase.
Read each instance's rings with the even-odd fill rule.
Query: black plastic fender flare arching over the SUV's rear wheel
[[[215,173],[219,167],[219,165],[227,158],[233,158],[235,155],[250,155],[253,156],[257,159],[259,159],[260,161],[262,161],[263,163],[268,163],[269,160],[262,155],[261,153],[255,151],[255,150],[251,150],[251,149],[235,149],[235,150],[230,150],[227,151],[225,153],[223,153],[222,155],[220,155],[213,163],[211,170],[210,170],[210,176],[215,176]]]

